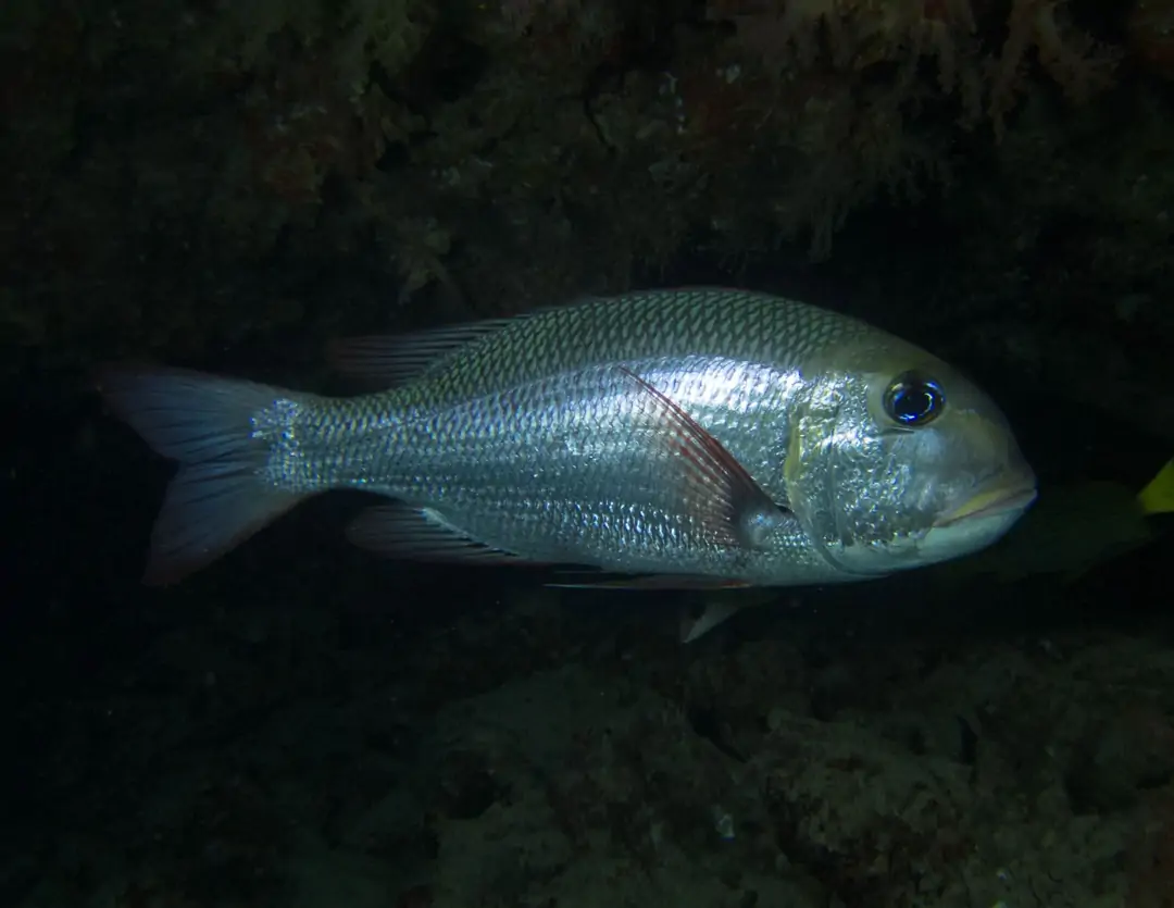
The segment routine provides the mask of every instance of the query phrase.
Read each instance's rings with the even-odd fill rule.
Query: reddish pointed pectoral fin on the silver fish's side
[[[780,507],[697,422],[629,369],[622,371],[645,394],[648,416],[661,440],[677,455],[681,495],[686,509],[702,519],[720,544],[761,549],[787,510]]]

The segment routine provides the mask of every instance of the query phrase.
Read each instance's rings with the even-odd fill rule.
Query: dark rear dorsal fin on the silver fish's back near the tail
[[[326,357],[339,374],[392,388],[418,378],[466,344],[501,330],[515,318],[491,318],[404,335],[369,335],[331,342]]]

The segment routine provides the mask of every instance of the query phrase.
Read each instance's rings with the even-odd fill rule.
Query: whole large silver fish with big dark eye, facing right
[[[394,499],[350,530],[372,550],[660,587],[917,567],[994,542],[1035,495],[1004,416],[957,371],[765,294],[630,292],[335,354],[387,390],[100,376],[110,408],[180,463],[146,581],[177,580],[331,489]]]

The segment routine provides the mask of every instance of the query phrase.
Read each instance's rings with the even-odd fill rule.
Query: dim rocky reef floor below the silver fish
[[[915,624],[895,592],[683,648],[670,601],[508,585],[443,627],[413,600],[140,613],[139,654],[39,717],[55,800],[6,902],[1169,904],[1168,638],[981,591]]]

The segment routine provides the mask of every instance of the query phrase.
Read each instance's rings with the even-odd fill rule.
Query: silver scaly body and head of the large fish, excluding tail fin
[[[429,556],[451,539],[625,573],[852,580],[993,542],[1021,507],[971,503],[1019,502],[1033,484],[998,409],[947,365],[858,321],[763,294],[593,300],[407,338],[379,362],[389,374],[419,366],[364,397],[282,395],[254,413],[252,438],[268,449],[262,478],[275,490],[356,487],[404,503],[376,546],[392,552]],[[905,369],[943,383],[952,423],[885,424],[878,389]],[[754,545],[713,531],[632,376],[778,505]]]

